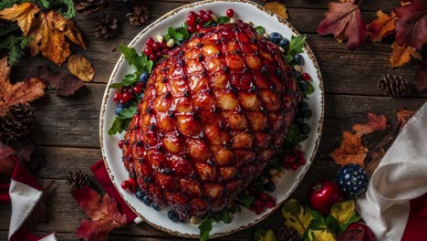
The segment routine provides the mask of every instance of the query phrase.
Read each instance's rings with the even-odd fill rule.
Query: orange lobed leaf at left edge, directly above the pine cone
[[[41,79],[26,79],[13,85],[9,80],[10,71],[7,58],[0,59],[0,117],[5,115],[10,106],[28,103],[45,95],[46,85]]]

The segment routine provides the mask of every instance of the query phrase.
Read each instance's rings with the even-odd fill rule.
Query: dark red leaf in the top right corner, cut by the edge
[[[409,5],[394,9],[396,16],[396,42],[417,49],[427,43],[427,3],[413,0]]]

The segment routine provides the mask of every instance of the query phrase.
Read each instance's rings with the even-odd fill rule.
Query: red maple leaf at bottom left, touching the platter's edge
[[[73,197],[78,201],[90,220],[83,219],[76,236],[84,240],[107,240],[109,232],[118,226],[126,225],[126,215],[121,215],[116,200],[109,197],[109,194],[101,196],[84,186],[73,193]]]

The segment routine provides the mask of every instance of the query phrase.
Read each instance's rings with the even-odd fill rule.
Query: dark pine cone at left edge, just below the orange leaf
[[[0,118],[0,141],[15,142],[26,138],[35,120],[27,104],[18,103]]]

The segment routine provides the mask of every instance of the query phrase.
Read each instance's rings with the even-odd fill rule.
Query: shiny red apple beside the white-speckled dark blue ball
[[[342,202],[343,194],[337,183],[326,181],[311,187],[310,203],[313,209],[318,210],[322,215],[328,215],[333,204]]]

